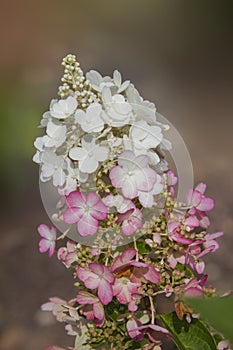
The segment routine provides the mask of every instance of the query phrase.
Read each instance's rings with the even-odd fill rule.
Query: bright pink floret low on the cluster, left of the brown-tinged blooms
[[[112,301],[114,276],[107,266],[90,263],[88,269],[79,267],[77,276],[86,288],[98,289],[98,297],[104,305]]]

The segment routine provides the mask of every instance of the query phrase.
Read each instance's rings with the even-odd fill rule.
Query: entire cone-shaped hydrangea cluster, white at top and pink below
[[[61,99],[43,115],[34,161],[40,180],[65,198],[58,220],[95,240],[80,244],[67,238],[69,228],[58,236],[55,227],[38,227],[40,252],[56,251],[77,288],[72,300],[51,298],[42,310],[75,336],[69,349],[159,350],[173,337],[159,300],[169,300],[170,311],[188,325],[199,316],[185,297],[216,295],[203,261],[223,235],[209,233],[214,201],[200,183],[186,203],[177,202],[178,179],[163,156],[171,148],[168,126],[133,84],[118,71],[113,78],[93,70],[84,76],[73,55],[63,65]]]

